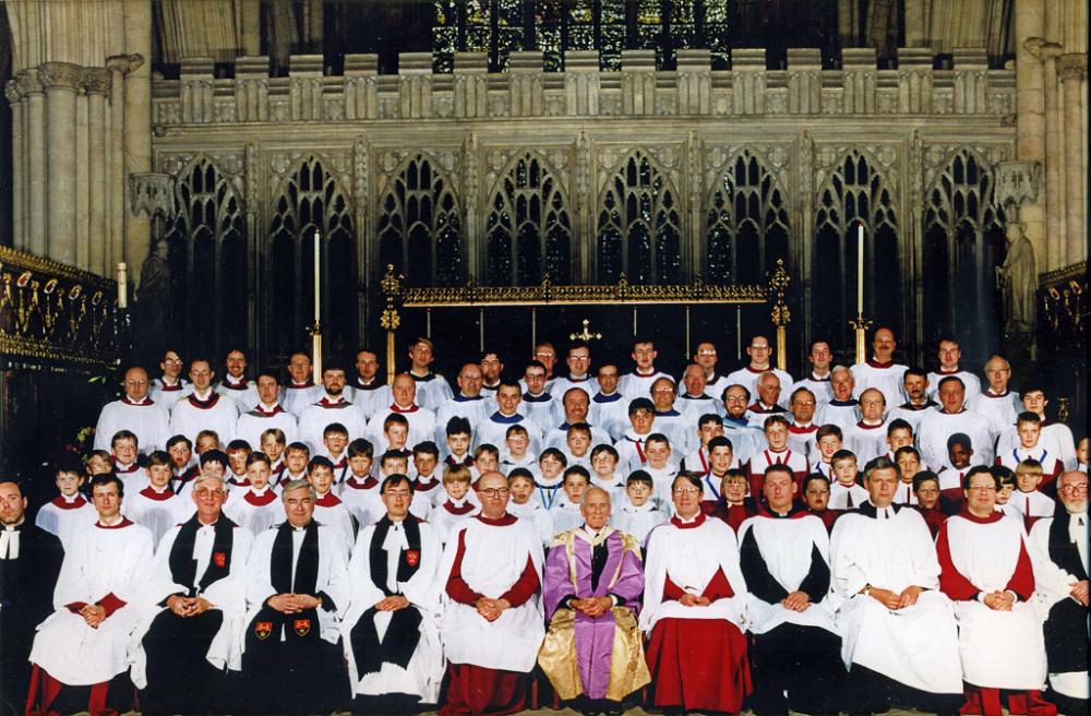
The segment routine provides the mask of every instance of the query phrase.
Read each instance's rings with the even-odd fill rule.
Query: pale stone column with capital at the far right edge
[[[1065,90],[1065,265],[1087,258],[1083,236],[1083,81],[1088,60],[1082,52],[1068,52],[1057,59],[1057,73]]]

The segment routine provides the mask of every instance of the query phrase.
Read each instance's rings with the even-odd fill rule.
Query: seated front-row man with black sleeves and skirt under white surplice
[[[829,534],[795,504],[787,465],[770,465],[762,484],[767,513],[739,528],[740,568],[753,646],[751,708],[757,714],[836,714],[844,681],[841,637],[829,592]],[[786,518],[787,517],[787,518]]]

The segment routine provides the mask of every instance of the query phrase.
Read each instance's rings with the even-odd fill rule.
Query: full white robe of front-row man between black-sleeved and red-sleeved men
[[[834,523],[830,590],[840,602],[841,658],[912,689],[962,693],[955,611],[939,587],[939,562],[924,517],[912,508],[870,502]],[[878,512],[887,518],[872,516]],[[924,587],[916,604],[890,611],[860,590]]]

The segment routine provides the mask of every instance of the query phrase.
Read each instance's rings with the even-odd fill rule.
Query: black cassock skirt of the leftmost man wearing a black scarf
[[[145,714],[229,713],[224,671],[205,658],[224,612],[211,609],[196,617],[159,612],[144,636],[147,688],[141,692]]]

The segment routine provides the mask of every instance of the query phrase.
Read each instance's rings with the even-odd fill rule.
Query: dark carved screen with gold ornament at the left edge
[[[101,366],[117,360],[117,282],[0,247],[0,354]]]

